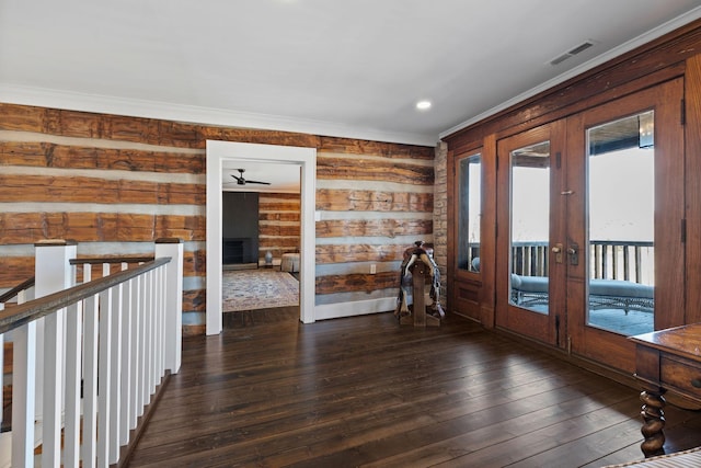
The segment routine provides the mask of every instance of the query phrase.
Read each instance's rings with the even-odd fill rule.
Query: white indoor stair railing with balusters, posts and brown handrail
[[[157,387],[180,369],[182,243],[120,259],[116,273],[100,259],[94,281],[97,260],[76,256],[76,246],[37,244],[37,298],[0,311],[13,347],[12,467],[33,467],[37,446],[42,467],[124,463]]]

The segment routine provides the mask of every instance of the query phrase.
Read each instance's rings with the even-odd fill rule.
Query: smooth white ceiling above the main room
[[[0,0],[0,101],[433,146],[701,18],[700,5]],[[417,111],[422,99],[433,107]]]

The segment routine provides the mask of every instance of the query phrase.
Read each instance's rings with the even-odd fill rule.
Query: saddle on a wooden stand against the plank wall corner
[[[430,305],[425,304],[424,288],[427,278],[430,279]],[[410,295],[413,298],[411,309],[406,300]],[[414,247],[404,251],[394,316],[401,324],[414,327],[439,326],[446,316],[440,307],[440,272],[434,261],[433,246],[416,241]]]

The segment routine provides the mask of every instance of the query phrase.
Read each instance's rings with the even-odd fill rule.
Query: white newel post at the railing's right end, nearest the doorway
[[[170,256],[165,269],[165,369],[180,370],[183,347],[183,241],[157,239],[156,258]]]

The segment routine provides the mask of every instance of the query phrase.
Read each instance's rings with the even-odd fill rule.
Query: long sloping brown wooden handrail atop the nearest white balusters
[[[48,316],[58,309],[62,309],[64,307],[68,307],[79,300],[94,296],[95,294],[116,286],[119,283],[127,282],[146,272],[164,265],[170,261],[170,256],[151,260],[150,263],[145,263],[130,270],[125,270],[110,276],[91,281],[90,283],[83,283],[69,289],[30,300],[28,303],[13,307],[10,310],[0,311],[0,333],[5,333],[33,320]]]

